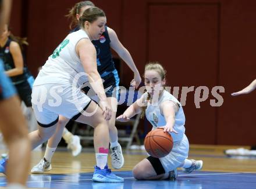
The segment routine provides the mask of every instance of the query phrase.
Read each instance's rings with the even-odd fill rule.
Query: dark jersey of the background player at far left
[[[0,47],[0,58],[3,60],[3,67],[5,71],[15,68],[15,63],[13,61],[12,54],[10,53],[10,42],[12,42],[12,40],[8,39],[6,44],[3,47]],[[12,76],[10,79],[13,84],[19,84],[26,81],[29,76],[31,76],[31,74],[24,63],[23,73],[18,76]]]

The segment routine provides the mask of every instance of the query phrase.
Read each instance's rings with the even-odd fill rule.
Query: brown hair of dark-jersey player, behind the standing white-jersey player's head
[[[81,8],[84,6],[95,6],[93,2],[91,1],[80,1],[76,3],[72,9],[69,10],[69,14],[66,15],[68,19],[71,19],[71,22],[69,24],[69,28],[72,29],[73,26],[77,26],[79,21],[76,19],[76,14],[80,14]]]

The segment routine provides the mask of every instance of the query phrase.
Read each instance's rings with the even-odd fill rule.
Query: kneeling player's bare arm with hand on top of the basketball
[[[177,105],[177,103],[173,101],[165,101],[165,102],[162,102],[162,104],[160,105],[160,111],[166,120],[166,125],[163,126],[164,132],[167,131],[167,132],[177,133],[177,131],[173,129],[173,126],[175,124],[175,113],[178,110],[179,110],[179,106]]]

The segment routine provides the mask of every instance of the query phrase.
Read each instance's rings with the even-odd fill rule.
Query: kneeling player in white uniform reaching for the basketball
[[[145,66],[145,92],[140,99],[134,102],[123,115],[116,119],[127,121],[130,117],[143,112],[152,124],[152,129],[162,127],[173,138],[172,151],[163,158],[149,156],[139,162],[133,169],[137,180],[162,180],[177,177],[177,167],[182,167],[184,172],[202,168],[202,161],[186,159],[189,154],[189,141],[185,135],[185,116],[182,105],[173,95],[164,90],[166,83],[165,70],[157,63],[152,62]]]

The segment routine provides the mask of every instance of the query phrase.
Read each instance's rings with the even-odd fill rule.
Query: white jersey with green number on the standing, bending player
[[[45,65],[42,66],[34,85],[46,83],[70,84],[76,82],[74,78],[78,77],[78,73],[82,75],[78,77],[79,80],[76,82],[79,87],[88,81],[81,60],[76,53],[76,44],[83,38],[89,38],[84,30],[67,35],[54,53],[49,56]]]

